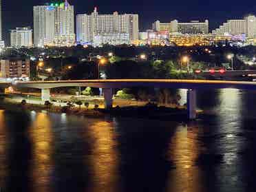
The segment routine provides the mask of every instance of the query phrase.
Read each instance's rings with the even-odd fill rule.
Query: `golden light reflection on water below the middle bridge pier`
[[[114,191],[117,185],[118,156],[111,122],[98,121],[89,126],[94,140],[92,151],[92,191]]]

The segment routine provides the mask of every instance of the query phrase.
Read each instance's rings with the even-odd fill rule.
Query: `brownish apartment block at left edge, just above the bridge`
[[[30,77],[30,59],[10,58],[1,60],[1,78]]]

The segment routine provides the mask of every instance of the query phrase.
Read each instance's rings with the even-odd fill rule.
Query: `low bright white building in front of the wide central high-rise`
[[[93,45],[98,47],[100,45],[122,45],[129,44],[129,34],[128,33],[101,33],[96,34],[93,39]]]

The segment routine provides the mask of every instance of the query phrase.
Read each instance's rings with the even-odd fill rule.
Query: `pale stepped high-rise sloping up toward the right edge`
[[[256,37],[256,17],[249,15],[244,19],[229,19],[219,28],[213,30],[213,34],[246,34],[248,38]]]

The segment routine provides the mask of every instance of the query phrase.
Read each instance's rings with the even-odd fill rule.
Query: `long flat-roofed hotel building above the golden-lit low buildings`
[[[209,33],[209,21],[190,21],[188,23],[179,23],[178,20],[173,20],[170,23],[160,23],[155,21],[152,25],[153,30],[169,32],[178,32],[182,34],[208,34]]]

